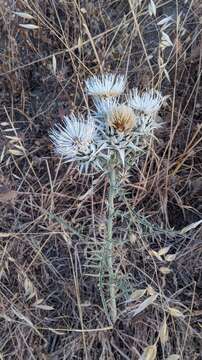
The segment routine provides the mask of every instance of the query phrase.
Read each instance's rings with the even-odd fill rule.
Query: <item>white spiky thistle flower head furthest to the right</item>
[[[164,97],[157,90],[148,90],[140,94],[138,89],[133,89],[129,95],[128,104],[135,110],[145,114],[156,114]]]

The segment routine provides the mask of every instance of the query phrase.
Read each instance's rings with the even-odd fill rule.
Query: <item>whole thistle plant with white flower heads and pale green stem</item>
[[[91,169],[104,173],[109,180],[107,231],[103,254],[108,271],[110,319],[117,319],[117,284],[114,269],[113,236],[115,198],[120,189],[120,175],[129,171],[147,150],[154,130],[159,126],[157,113],[164,101],[154,89],[124,94],[126,78],[106,74],[86,81],[86,93],[92,96],[94,109],[87,117],[71,115],[51,130],[58,155],[65,162],[75,162],[82,173]],[[101,286],[101,285],[100,285]],[[103,301],[104,302],[104,301]]]

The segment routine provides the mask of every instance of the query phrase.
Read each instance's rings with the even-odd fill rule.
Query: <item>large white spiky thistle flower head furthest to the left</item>
[[[65,162],[79,161],[86,165],[94,160],[97,147],[95,145],[95,125],[92,118],[84,120],[74,115],[64,118],[62,125],[51,130],[50,137],[58,155]]]

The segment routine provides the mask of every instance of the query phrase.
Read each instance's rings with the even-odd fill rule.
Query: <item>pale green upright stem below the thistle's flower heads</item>
[[[117,318],[116,308],[116,284],[113,271],[113,218],[114,218],[114,197],[115,197],[116,173],[111,167],[109,172],[109,196],[108,196],[108,221],[107,221],[107,263],[109,271],[109,293],[111,317],[114,323]]]

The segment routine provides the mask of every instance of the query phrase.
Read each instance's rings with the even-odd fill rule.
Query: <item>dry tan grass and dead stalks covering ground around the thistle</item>
[[[202,209],[202,10],[198,0],[155,3],[150,16],[146,0],[0,1],[2,359],[202,359],[200,224],[180,233]],[[113,329],[92,266],[108,184],[62,165],[48,137],[88,106],[84,79],[109,70],[170,96],[159,140],[116,199]]]

